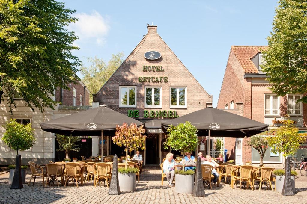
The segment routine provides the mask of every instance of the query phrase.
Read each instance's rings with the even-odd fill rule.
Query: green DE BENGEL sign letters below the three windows
[[[129,117],[140,117],[139,110],[128,110]],[[179,117],[176,110],[144,110],[144,117],[175,118]]]

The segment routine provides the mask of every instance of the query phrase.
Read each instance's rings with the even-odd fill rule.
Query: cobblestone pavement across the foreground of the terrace
[[[231,189],[228,184],[213,186],[212,190],[205,186],[206,197],[193,197],[192,194],[177,194],[175,187],[169,187],[166,181],[161,186],[161,170],[144,169],[140,176],[140,183],[136,184],[136,191],[122,192],[120,195],[108,195],[108,188],[103,185],[95,188],[89,181],[85,186],[68,187],[42,186],[42,179],[30,186],[24,184],[23,189],[10,189],[8,184],[9,173],[0,177],[0,203],[130,203],[130,204],[249,204],[249,203],[307,203],[307,177],[296,177],[295,196],[282,196],[280,193],[269,190]],[[26,181],[29,182],[30,172],[27,172]],[[33,181],[33,180],[32,180]]]

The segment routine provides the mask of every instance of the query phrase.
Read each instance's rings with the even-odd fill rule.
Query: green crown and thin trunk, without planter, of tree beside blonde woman
[[[164,143],[165,149],[170,146],[177,151],[192,152],[197,147],[197,129],[189,121],[180,123],[177,126],[170,125],[167,132],[168,138]],[[185,160],[183,160],[183,169],[185,169]]]

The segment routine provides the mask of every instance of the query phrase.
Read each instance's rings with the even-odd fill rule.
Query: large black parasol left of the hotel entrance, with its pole
[[[97,136],[101,134],[101,160],[103,161],[103,132],[114,133],[116,125],[123,123],[144,125],[124,114],[99,106],[90,110],[41,123],[41,129],[61,135]],[[144,129],[146,129],[144,125]]]

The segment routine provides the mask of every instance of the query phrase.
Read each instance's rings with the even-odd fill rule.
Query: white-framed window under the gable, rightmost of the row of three
[[[187,107],[187,87],[170,87],[169,91],[171,108]]]

